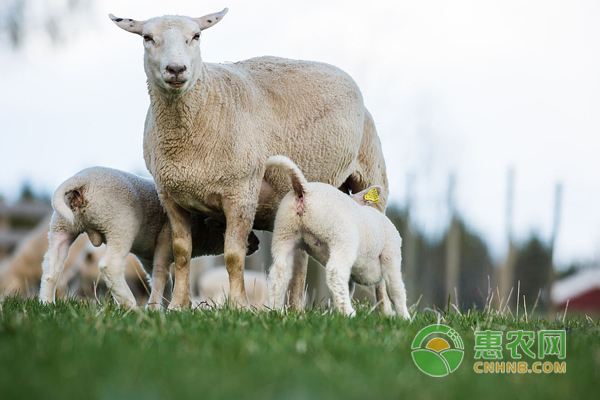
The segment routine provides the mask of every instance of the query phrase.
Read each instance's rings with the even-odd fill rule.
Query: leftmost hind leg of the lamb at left
[[[61,229],[53,229],[50,232],[50,248],[44,256],[42,264],[43,274],[40,287],[40,300],[44,303],[54,303],[56,285],[60,274],[65,267],[65,261],[69,256],[71,245],[79,236],[76,233]]]

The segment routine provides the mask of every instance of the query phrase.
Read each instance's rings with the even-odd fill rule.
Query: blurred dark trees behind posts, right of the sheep
[[[493,307],[497,308],[499,271],[503,266],[495,265],[485,241],[460,216],[455,215],[441,238],[436,240],[428,238],[412,226],[410,213],[406,208],[392,204],[387,209],[387,216],[398,228],[403,240],[402,268],[409,305],[422,296],[420,307],[445,310],[450,295],[451,302],[461,310],[472,307],[482,310],[493,293]],[[448,251],[449,245],[457,246],[458,249]],[[458,279],[456,286],[448,288],[448,258],[453,253],[458,253]],[[532,233],[529,239],[516,244],[514,262],[511,309],[514,310],[516,306],[519,286],[521,304],[525,296],[528,309],[531,310],[540,294],[538,310],[548,308],[549,289],[554,273],[549,244]],[[506,303],[507,295],[500,294],[500,297]]]

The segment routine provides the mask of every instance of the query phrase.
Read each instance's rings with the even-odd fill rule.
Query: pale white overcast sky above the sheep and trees
[[[57,0],[60,2],[60,0]],[[51,193],[82,168],[145,173],[148,95],[142,39],[108,19],[201,16],[203,59],[317,60],[359,84],[383,144],[392,201],[414,176],[418,225],[448,222],[448,176],[467,223],[502,258],[506,177],[516,174],[514,231],[551,233],[563,184],[556,260],[600,260],[600,3],[587,1],[96,0],[68,42],[3,50],[0,194],[24,180]],[[37,10],[38,13],[43,10]]]

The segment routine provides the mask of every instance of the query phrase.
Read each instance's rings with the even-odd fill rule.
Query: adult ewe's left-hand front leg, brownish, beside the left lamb
[[[173,259],[175,261],[175,286],[169,310],[189,307],[192,304],[190,295],[190,260],[192,258],[192,221],[188,211],[181,208],[164,192],[159,191],[163,207],[171,224],[173,242]]]

